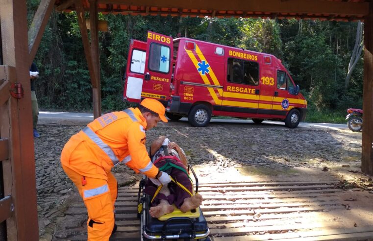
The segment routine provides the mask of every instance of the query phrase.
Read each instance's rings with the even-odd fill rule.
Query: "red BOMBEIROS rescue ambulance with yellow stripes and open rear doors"
[[[307,113],[299,86],[274,55],[150,31],[147,42],[131,40],[124,83],[124,100],[145,97],[160,100],[169,119],[188,117],[194,126],[229,116],[295,128]]]

